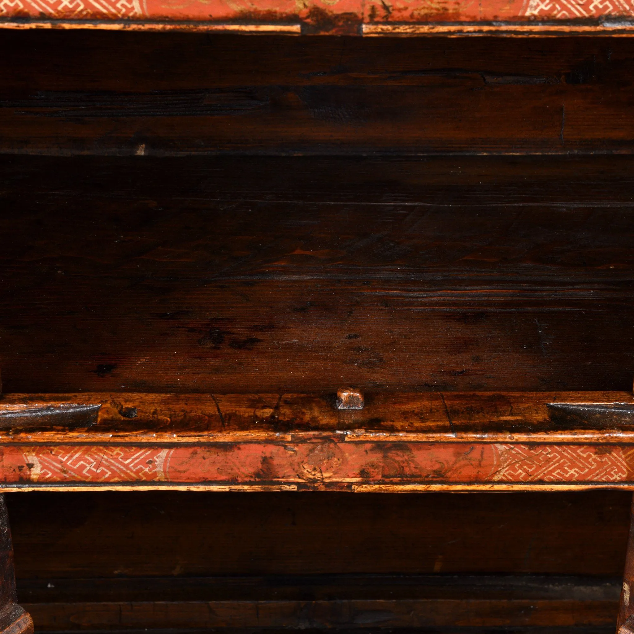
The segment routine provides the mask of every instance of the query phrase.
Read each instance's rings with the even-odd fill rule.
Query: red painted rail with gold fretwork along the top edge
[[[628,0],[2,0],[0,27],[416,36],[630,34]]]

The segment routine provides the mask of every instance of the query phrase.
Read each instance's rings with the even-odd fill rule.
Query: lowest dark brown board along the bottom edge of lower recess
[[[614,603],[595,600],[326,600],[27,604],[40,631],[165,628],[340,628],[489,625],[605,626]]]

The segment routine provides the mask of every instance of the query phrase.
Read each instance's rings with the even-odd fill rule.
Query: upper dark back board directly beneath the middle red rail
[[[7,498],[20,588],[29,579],[55,585],[55,579],[148,576],[619,578],[631,495],[150,492]],[[20,592],[20,600],[30,602]],[[94,598],[71,593],[70,599],[101,600],[100,592],[95,586]],[[156,592],[155,600],[165,600]]]

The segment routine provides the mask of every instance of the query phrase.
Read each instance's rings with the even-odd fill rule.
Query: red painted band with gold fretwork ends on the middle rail
[[[492,443],[234,443],[4,446],[4,484],[629,482],[634,446]]]

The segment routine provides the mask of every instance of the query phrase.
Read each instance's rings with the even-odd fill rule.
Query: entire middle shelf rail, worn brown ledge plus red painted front
[[[8,394],[5,491],[634,489],[628,392]]]

